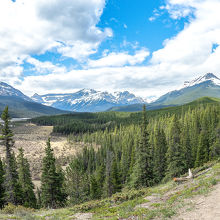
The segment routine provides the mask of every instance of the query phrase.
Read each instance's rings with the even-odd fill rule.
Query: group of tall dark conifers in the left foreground
[[[5,146],[5,160],[0,160],[0,208],[11,203],[31,208],[56,208],[65,204],[64,175],[55,165],[55,157],[48,139],[42,163],[41,188],[34,192],[30,164],[19,149],[16,157],[13,151],[13,132],[10,129],[8,107],[2,113],[3,128],[0,140]]]

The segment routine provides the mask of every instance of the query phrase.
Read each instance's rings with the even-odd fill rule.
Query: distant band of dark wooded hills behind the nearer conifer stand
[[[166,107],[156,110],[149,110],[147,105],[148,118],[160,117],[167,114],[182,114],[198,108],[199,106],[219,105],[220,99],[211,97],[202,97],[193,102],[182,106]],[[143,105],[140,106],[140,110]],[[42,116],[33,118],[30,121],[38,125],[54,126],[55,133],[85,133],[104,130],[105,128],[113,128],[114,126],[139,124],[141,122],[141,112],[99,112],[99,113],[71,113],[55,116]]]

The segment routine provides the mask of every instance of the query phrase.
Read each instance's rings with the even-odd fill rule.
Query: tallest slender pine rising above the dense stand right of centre
[[[152,148],[147,132],[146,106],[143,107],[141,138],[137,147],[136,160],[131,174],[131,186],[151,186],[153,183]]]

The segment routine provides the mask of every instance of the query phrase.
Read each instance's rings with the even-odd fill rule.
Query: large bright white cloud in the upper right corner
[[[176,1],[170,0],[169,4],[176,6],[175,3]],[[177,11],[180,6],[178,3]],[[188,0],[183,1],[183,7],[194,7],[195,18],[176,37],[166,40],[163,49],[153,53],[153,64],[179,63],[197,68],[209,59],[212,45],[220,43],[220,1]]]

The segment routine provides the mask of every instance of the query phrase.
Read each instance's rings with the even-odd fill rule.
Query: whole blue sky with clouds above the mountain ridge
[[[1,0],[0,81],[155,99],[220,72],[220,0]]]

